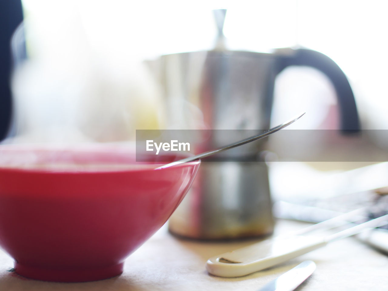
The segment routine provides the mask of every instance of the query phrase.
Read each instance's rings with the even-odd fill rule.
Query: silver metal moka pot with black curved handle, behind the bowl
[[[296,65],[314,67],[329,78],[338,97],[341,129],[359,129],[352,89],[333,60],[308,49],[227,50],[222,33],[225,13],[215,10],[219,35],[214,50],[163,55],[148,63],[163,89],[172,128],[196,128],[192,108],[199,108],[208,129],[268,129],[276,76]],[[241,133],[233,139],[244,137]],[[208,147],[223,145],[217,134],[208,140]],[[196,239],[270,234],[274,219],[268,169],[260,155],[263,145],[255,142],[203,160],[191,190],[169,220],[170,232]]]

